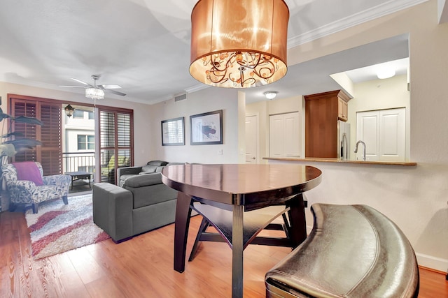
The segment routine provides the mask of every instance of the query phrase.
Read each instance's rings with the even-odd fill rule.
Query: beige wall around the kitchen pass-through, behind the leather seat
[[[419,20],[419,22],[416,22]],[[419,264],[448,268],[448,24],[437,0],[297,46],[289,64],[409,33],[410,159],[416,167],[308,163],[323,170],[309,203],[369,204],[406,234]],[[311,214],[307,214],[311,223]]]

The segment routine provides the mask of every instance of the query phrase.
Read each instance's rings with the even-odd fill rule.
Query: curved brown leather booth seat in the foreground
[[[313,204],[309,237],[265,276],[266,297],[417,297],[414,250],[365,205]]]

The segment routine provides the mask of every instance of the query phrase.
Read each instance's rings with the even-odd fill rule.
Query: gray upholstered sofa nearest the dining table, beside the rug
[[[122,187],[94,184],[92,196],[94,223],[116,243],[174,223],[177,191],[162,183],[160,172],[133,174]]]

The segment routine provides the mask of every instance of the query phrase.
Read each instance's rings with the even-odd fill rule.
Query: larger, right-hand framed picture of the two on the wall
[[[192,145],[223,144],[223,110],[190,116]]]

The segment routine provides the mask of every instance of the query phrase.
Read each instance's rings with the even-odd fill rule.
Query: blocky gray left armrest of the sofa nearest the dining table
[[[97,183],[92,187],[93,222],[109,234],[113,241],[120,242],[133,235],[132,193],[125,188]]]

